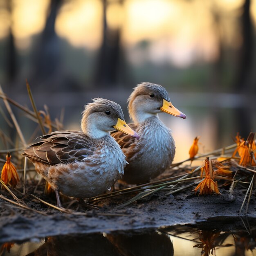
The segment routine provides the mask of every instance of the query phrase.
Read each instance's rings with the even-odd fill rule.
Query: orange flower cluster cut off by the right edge
[[[255,133],[250,132],[247,140],[240,139],[239,133],[236,135],[237,148],[233,153],[233,157],[238,153],[240,156],[239,164],[242,166],[253,165],[256,163],[253,159],[256,157]]]

